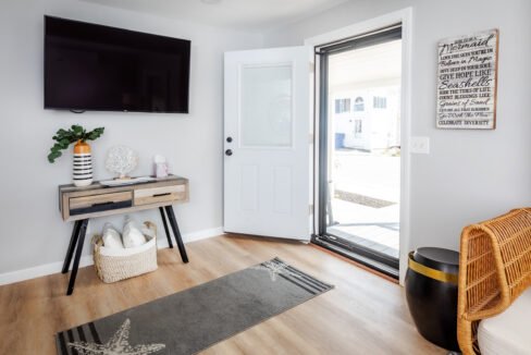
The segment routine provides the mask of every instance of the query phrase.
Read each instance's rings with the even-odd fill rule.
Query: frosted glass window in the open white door
[[[292,66],[244,66],[240,76],[243,147],[292,147]]]

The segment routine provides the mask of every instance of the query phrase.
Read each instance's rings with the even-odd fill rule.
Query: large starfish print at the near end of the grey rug
[[[79,355],[148,355],[165,347],[164,344],[131,345],[129,329],[131,320],[127,318],[106,344],[76,342],[69,343],[69,346]]]

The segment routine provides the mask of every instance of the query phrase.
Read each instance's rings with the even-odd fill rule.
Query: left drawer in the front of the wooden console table
[[[70,198],[70,215],[85,215],[133,206],[131,191]]]

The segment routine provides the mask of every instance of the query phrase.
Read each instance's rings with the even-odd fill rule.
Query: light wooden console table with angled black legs
[[[119,213],[129,213],[145,209],[159,208],[168,244],[173,243],[168,229],[168,219],[177,243],[183,262],[188,262],[177,220],[172,205],[188,201],[188,180],[170,175],[156,181],[109,187],[96,182],[90,186],[76,187],[74,185],[59,186],[59,210],[65,222],[74,221],[74,230],[70,238],[69,249],[64,258],[62,273],[69,272],[72,257],[74,265],[70,276],[66,295],[74,292],[75,279],[82,257],[83,244],[90,218],[106,217]],[[164,213],[165,210],[165,213]],[[75,256],[74,256],[75,250]]]

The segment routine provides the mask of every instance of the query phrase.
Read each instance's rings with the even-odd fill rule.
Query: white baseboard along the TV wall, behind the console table
[[[224,234],[222,227],[213,228],[210,230],[192,232],[192,233],[184,233],[183,242],[190,243],[190,242],[206,240],[222,234]],[[158,238],[159,240],[157,241],[157,245],[159,249],[168,247],[168,240],[165,237],[159,236]],[[79,260],[79,268],[90,266],[92,264],[94,264],[92,255],[85,255]],[[63,267],[63,261],[57,261],[57,262],[45,264],[41,266],[27,268],[23,270],[0,273],[0,285],[40,278],[52,273],[59,273],[61,272],[62,267]]]

